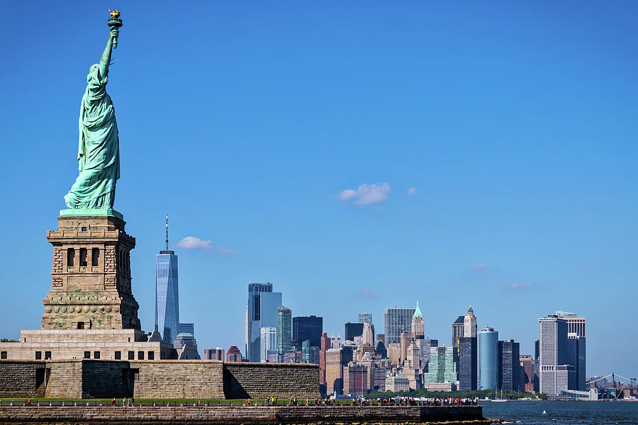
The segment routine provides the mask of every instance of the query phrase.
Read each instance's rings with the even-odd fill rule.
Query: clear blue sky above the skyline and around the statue
[[[632,1],[5,3],[0,334],[40,325],[113,6],[142,328],[168,210],[201,350],[243,346],[247,284],[269,281],[335,335],[419,299],[432,338],[471,304],[532,353],[538,317],[576,312],[587,373],[638,375]]]

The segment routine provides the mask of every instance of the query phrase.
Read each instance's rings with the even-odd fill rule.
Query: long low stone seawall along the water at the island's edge
[[[458,407],[0,407],[5,424],[490,424],[481,406]]]

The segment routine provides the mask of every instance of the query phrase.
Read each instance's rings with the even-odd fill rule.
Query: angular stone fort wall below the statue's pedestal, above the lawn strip
[[[0,360],[0,397],[319,397],[317,365],[220,361]]]

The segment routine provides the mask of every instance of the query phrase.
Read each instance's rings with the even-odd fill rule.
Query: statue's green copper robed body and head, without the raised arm
[[[100,79],[97,64],[86,76],[79,116],[79,176],[65,195],[69,208],[113,208],[120,149],[115,109],[106,94],[107,80],[106,76]]]

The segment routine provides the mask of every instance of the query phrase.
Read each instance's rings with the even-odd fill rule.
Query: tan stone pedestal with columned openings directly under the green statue
[[[135,238],[115,216],[60,216],[42,329],[140,329],[130,287]]]

